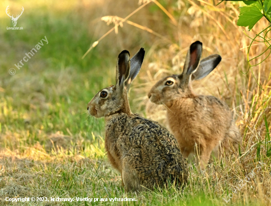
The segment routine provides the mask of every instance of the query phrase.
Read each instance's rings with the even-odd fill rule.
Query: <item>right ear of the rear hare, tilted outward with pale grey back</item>
[[[221,56],[219,56],[218,54],[212,54],[204,58],[201,61],[199,68],[192,74],[191,79],[198,80],[207,76],[213,69],[216,68],[216,66],[220,63],[221,59]]]

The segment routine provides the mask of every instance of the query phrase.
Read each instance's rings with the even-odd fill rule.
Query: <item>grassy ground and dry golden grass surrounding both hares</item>
[[[124,18],[138,7],[136,1],[1,1],[2,11],[7,5],[10,12],[19,13],[21,6],[25,11],[17,23],[24,30],[17,31],[6,30],[11,20],[4,12],[0,14],[0,205],[271,205],[270,59],[254,69],[262,91],[251,72],[240,72],[247,69],[244,55],[249,39],[235,26],[237,5],[215,7],[211,1],[206,1],[210,5],[195,2],[161,1],[179,18],[178,27],[154,3],[132,17],[131,21],[169,41],[124,25],[118,35],[106,36],[82,60],[90,45],[109,30],[100,17]],[[116,11],[114,6],[125,9]],[[224,31],[233,31],[226,33],[230,39],[219,24]],[[261,22],[261,26],[266,24]],[[8,70],[44,36],[48,44],[10,75]],[[194,87],[198,93],[220,97],[235,108],[243,138],[240,150],[225,155],[221,163],[214,160],[205,172],[190,163],[189,182],[183,191],[170,187],[126,194],[120,174],[105,156],[104,121],[88,117],[87,103],[100,89],[114,83],[118,53],[129,49],[133,54],[143,46],[145,63],[134,82],[130,103],[133,112],[165,123],[163,111],[159,118],[145,112],[146,93],[161,76],[180,72],[187,47],[196,39],[203,41],[203,56],[219,53],[223,61],[212,76]],[[255,46],[251,55],[263,49]],[[10,203],[4,201],[6,197],[89,197],[99,201]],[[100,197],[108,201],[101,202]],[[136,201],[111,203],[109,198],[115,197],[135,197]]]

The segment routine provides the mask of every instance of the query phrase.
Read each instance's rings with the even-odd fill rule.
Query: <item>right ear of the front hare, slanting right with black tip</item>
[[[132,81],[135,79],[139,70],[141,69],[144,55],[145,55],[145,51],[143,48],[141,48],[135,53],[135,55],[130,60],[131,61],[130,74],[129,74],[127,81],[125,82],[125,87],[126,87],[127,92],[130,89],[130,85],[131,85]]]

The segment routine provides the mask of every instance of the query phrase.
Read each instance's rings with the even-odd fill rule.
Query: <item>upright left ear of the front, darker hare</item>
[[[116,64],[116,87],[122,93],[124,84],[130,73],[130,54],[129,51],[123,50],[117,59]]]

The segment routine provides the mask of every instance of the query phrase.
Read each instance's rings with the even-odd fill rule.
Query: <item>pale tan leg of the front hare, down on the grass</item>
[[[131,166],[130,157],[123,158],[122,163],[122,182],[125,187],[125,191],[141,191],[143,187],[140,185],[138,174]]]

